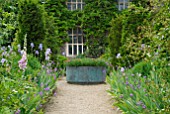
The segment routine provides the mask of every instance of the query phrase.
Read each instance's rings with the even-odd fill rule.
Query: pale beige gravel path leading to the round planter
[[[68,84],[65,78],[57,83],[57,95],[50,100],[45,114],[120,114],[112,107],[107,84]]]

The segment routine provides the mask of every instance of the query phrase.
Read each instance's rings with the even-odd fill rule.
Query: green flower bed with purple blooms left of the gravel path
[[[41,112],[42,104],[55,89],[58,73],[48,63],[27,55],[27,68],[18,67],[20,53],[13,48],[1,48],[0,54],[0,113],[32,114]]]

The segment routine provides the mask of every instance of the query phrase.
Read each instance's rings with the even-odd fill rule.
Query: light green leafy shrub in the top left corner
[[[17,28],[17,0],[0,0],[0,46],[10,45]]]

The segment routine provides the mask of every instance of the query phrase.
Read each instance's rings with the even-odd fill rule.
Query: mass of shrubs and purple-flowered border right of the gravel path
[[[119,41],[112,42],[111,45],[115,47],[119,42],[121,45],[114,51],[114,55],[110,54],[117,70],[108,77],[108,83],[111,85],[109,92],[116,100],[115,105],[124,113],[166,114],[170,112],[170,4],[164,0],[151,0],[147,2],[149,4],[142,5],[137,3],[140,2],[135,2],[136,6],[131,5],[117,17],[123,17],[121,29],[116,29],[118,25],[112,25],[110,37],[116,39],[116,35],[113,35],[115,31],[121,38],[117,38]],[[117,18],[112,22],[118,20]],[[134,25],[131,25],[128,19],[132,19]],[[127,26],[127,23],[123,22],[130,25]],[[120,34],[118,30],[121,31]]]

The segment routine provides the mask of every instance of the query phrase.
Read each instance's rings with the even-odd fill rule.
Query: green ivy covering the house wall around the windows
[[[69,11],[67,0],[47,0],[46,11],[54,16],[58,37],[67,41],[67,30],[80,26],[86,38],[88,50],[86,56],[99,57],[105,51],[110,24],[117,11],[113,0],[84,0],[85,7],[81,10]]]

